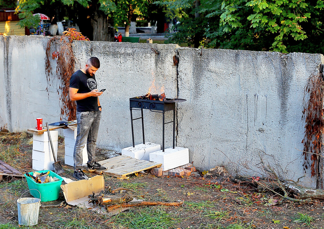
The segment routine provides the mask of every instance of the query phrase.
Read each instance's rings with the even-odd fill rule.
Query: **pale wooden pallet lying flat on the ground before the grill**
[[[107,170],[100,171],[112,177],[123,178],[135,172],[144,171],[154,167],[161,167],[161,163],[139,160],[125,155],[106,159],[98,162],[100,165],[107,167]]]

